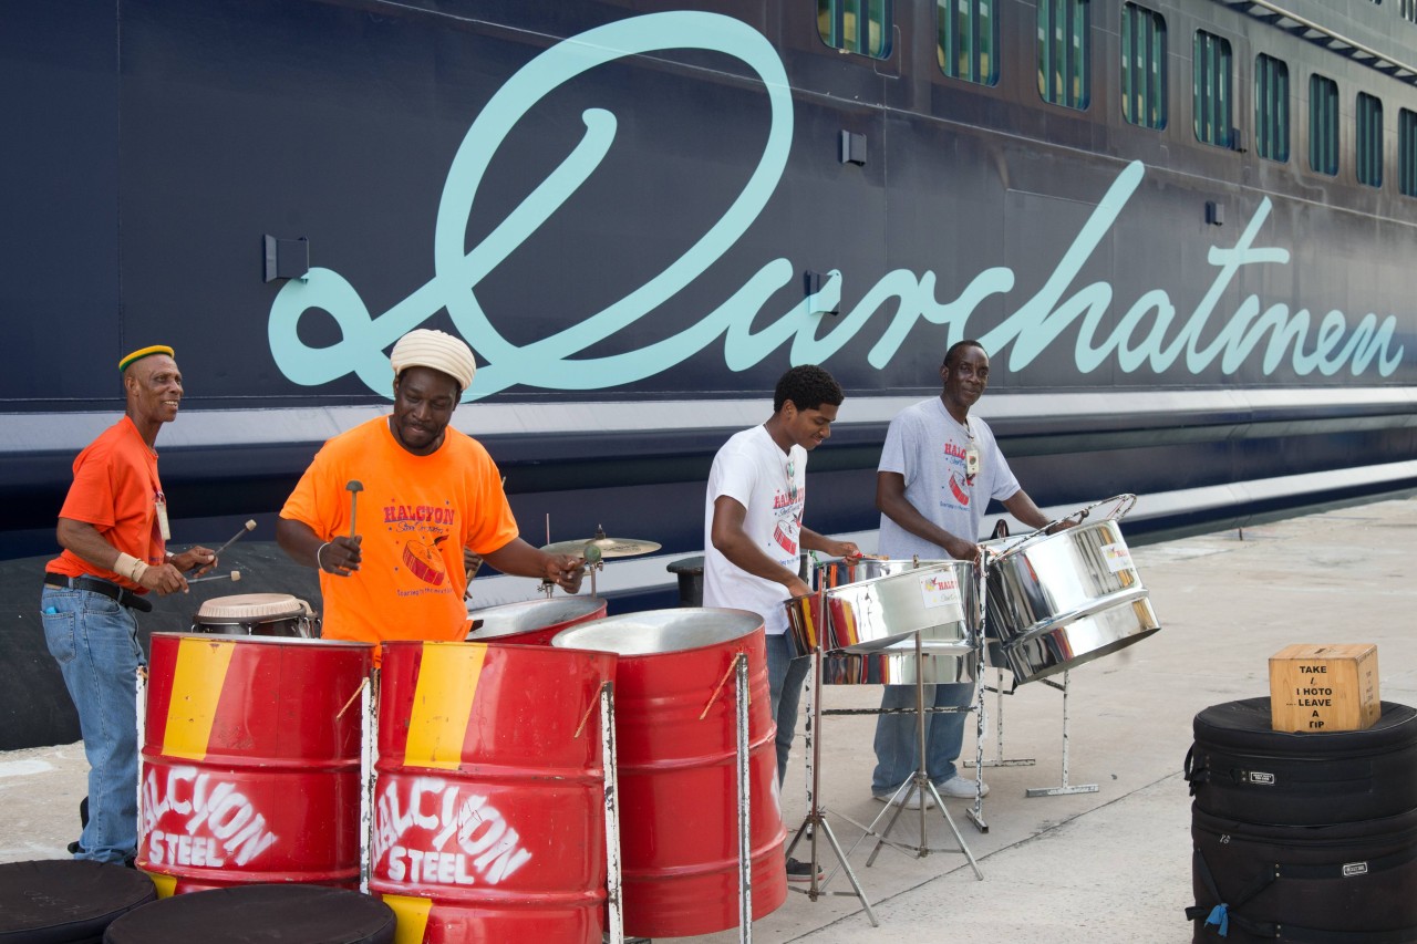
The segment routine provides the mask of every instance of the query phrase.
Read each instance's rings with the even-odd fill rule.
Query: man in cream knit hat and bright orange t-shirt
[[[322,635],[466,638],[465,549],[577,592],[584,561],[521,540],[492,456],[448,425],[472,384],[468,346],[418,329],[390,360],[394,412],[327,441],[276,522],[281,547],[320,571]]]

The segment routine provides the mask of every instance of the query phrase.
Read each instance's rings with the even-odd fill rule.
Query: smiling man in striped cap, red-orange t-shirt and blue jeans
[[[217,563],[205,547],[167,553],[167,499],[157,479],[157,431],[177,417],[181,373],[173,349],[143,347],[119,361],[128,407],[74,461],[74,483],[45,566],[40,608],[89,761],[88,824],[75,859],[130,862],[137,848],[137,612],[187,590],[183,571]]]

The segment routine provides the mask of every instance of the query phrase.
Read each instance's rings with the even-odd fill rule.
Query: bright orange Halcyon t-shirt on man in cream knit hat
[[[448,427],[432,455],[414,455],[380,417],[343,432],[316,454],[281,517],[309,524],[323,540],[363,536],[357,573],[320,571],[327,639],[462,639],[468,585],[462,549],[486,554],[517,537],[497,466],[480,442]]]

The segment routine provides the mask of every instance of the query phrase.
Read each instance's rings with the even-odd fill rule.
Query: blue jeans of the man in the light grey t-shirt
[[[925,706],[965,707],[973,699],[973,682],[927,685]],[[881,693],[883,709],[915,707],[914,685],[887,685]],[[925,714],[925,771],[937,787],[956,774],[955,758],[965,737],[964,712]],[[876,719],[876,772],[871,794],[888,797],[911,778],[920,758],[920,733],[915,714],[881,714]]]

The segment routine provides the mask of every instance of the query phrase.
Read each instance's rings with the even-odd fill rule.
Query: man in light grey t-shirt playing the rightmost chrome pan
[[[989,424],[969,408],[989,384],[989,356],[976,340],[952,344],[939,367],[944,383],[932,397],[896,415],[876,472],[876,509],[881,513],[879,551],[891,560],[978,560],[985,507],[998,499],[1029,527],[1047,516],[1019,488],[995,444]],[[931,690],[934,689],[934,690]],[[973,683],[925,686],[927,707],[965,707]],[[914,685],[887,685],[881,709],[914,709]],[[955,770],[964,740],[962,712],[925,714],[925,770],[942,797],[973,797],[976,782]],[[920,758],[914,714],[881,714],[876,723],[876,771],[871,795],[911,809],[935,801],[915,788],[901,791]],[[981,794],[989,791],[978,784]]]

